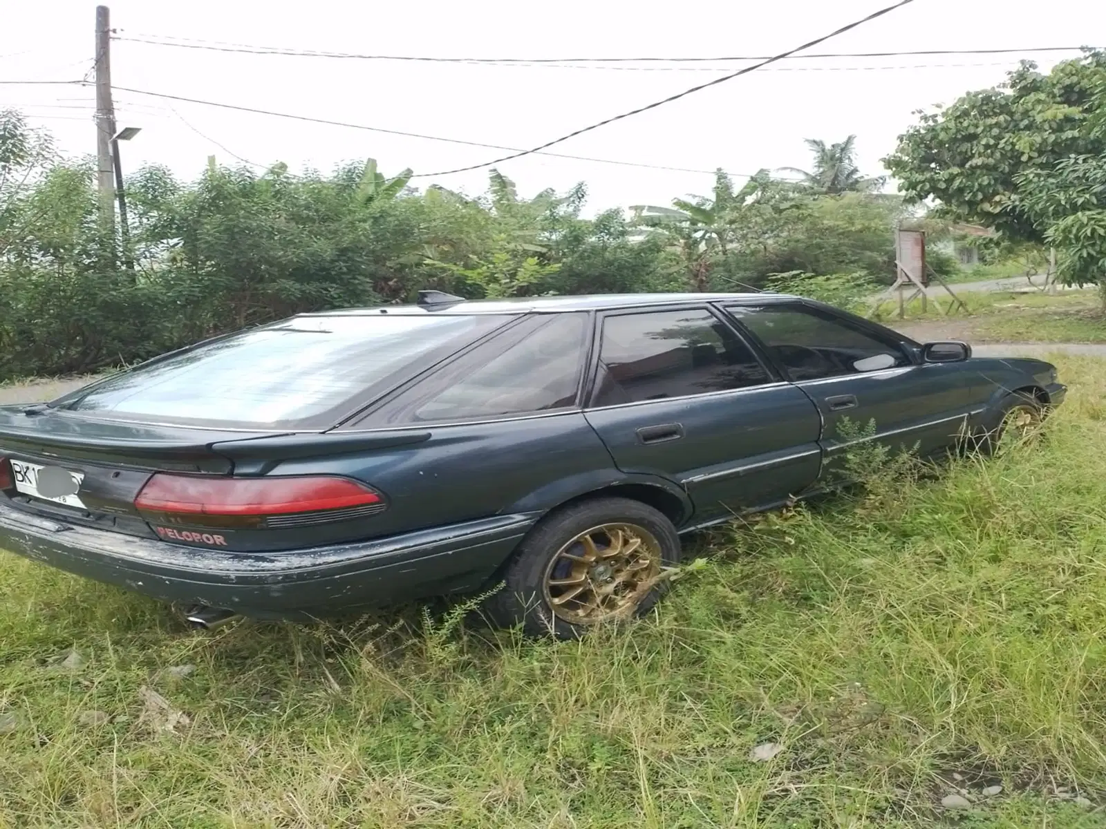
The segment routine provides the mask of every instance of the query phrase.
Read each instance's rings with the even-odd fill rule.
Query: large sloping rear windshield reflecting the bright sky
[[[197,426],[327,428],[511,318],[288,319],[138,366],[63,408]]]

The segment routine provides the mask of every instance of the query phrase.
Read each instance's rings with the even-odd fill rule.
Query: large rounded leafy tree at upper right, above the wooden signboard
[[[947,214],[1010,240],[1042,242],[1046,227],[1026,209],[1022,182],[1070,156],[1106,153],[1096,128],[1104,84],[1104,52],[1060,63],[1047,75],[1024,62],[1002,86],[921,115],[885,164],[911,199],[933,198]]]

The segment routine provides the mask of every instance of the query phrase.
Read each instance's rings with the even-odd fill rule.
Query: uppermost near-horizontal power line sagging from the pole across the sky
[[[152,39],[158,40],[152,40]],[[149,34],[138,38],[116,36],[114,40],[129,43],[146,43],[155,46],[174,46],[177,49],[199,49],[210,52],[238,52],[242,54],[272,54],[292,57],[336,57],[361,61],[419,61],[427,63],[478,63],[503,65],[555,65],[565,63],[720,63],[727,61],[766,61],[773,55],[720,55],[717,57],[440,57],[437,55],[388,55],[356,54],[352,52],[324,52],[316,50],[284,49],[281,46],[250,45],[248,43],[225,43],[220,41],[198,40],[194,43],[165,42],[195,39],[173,38],[171,35]],[[810,60],[817,57],[902,57],[921,55],[970,55],[970,54],[1019,54],[1034,52],[1078,52],[1084,46],[1032,46],[1026,49],[925,49],[900,52],[831,52],[815,54],[789,54],[776,60]],[[595,66],[594,69],[613,69]]]

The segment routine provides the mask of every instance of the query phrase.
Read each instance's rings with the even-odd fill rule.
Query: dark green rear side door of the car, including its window
[[[816,481],[816,407],[719,312],[612,312],[597,325],[584,414],[624,472],[679,482],[693,523],[780,502]]]

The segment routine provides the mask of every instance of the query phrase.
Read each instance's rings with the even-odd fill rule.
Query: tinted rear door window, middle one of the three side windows
[[[768,382],[753,351],[706,308],[603,322],[593,406],[705,395]]]

